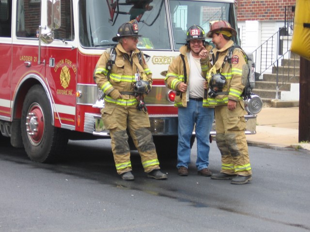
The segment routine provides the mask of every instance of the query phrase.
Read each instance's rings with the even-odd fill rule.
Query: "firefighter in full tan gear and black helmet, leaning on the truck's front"
[[[140,36],[136,20],[122,24],[112,38],[118,44],[101,55],[94,70],[94,79],[104,93],[105,107],[101,109],[101,115],[110,132],[117,173],[124,180],[134,180],[128,130],[147,176],[167,179],[167,175],[159,171],[159,161],[149,131],[149,116],[143,102],[153,80],[143,54],[137,48]]]

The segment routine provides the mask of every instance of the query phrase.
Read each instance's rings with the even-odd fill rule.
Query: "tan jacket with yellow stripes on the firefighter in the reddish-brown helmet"
[[[233,46],[232,40],[226,43],[220,50],[217,50],[217,48],[212,49],[210,56],[213,52],[216,58],[217,53],[219,53],[215,67],[214,61],[209,60],[209,58],[201,60],[203,76],[207,76],[209,82],[212,73],[222,73],[222,75],[226,77],[226,84],[223,87],[223,92],[229,92],[229,94],[219,94],[215,98],[210,99],[209,102],[211,105],[227,104],[228,100],[236,102],[243,100],[242,92],[248,78],[248,65],[242,50],[235,48],[232,55],[232,64],[227,61],[222,68],[224,58],[228,55],[228,49],[231,46]]]

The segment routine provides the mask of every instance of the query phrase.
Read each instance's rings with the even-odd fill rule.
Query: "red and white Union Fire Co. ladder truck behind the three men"
[[[234,0],[0,0],[2,136],[36,162],[55,161],[69,139],[109,138],[93,70],[115,45],[119,26],[136,19],[138,47],[154,79],[145,99],[150,130],[158,153],[176,154],[175,92],[164,84],[168,66],[190,26],[207,32],[210,21],[222,19],[237,30],[235,11]],[[238,35],[233,40],[239,44]],[[246,120],[246,133],[255,133],[256,115]]]

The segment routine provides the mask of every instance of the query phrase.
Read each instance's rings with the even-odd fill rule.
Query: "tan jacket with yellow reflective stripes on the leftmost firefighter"
[[[143,58],[142,52],[142,62],[140,64],[138,57],[139,49],[134,50],[130,57],[125,52],[122,44],[118,43],[115,51],[115,64],[112,66],[109,80],[107,78],[107,61],[109,60],[111,49],[107,49],[99,58],[94,70],[94,80],[99,89],[105,94],[105,102],[119,105],[137,104],[133,89],[135,74],[139,73],[140,80],[148,81],[150,86],[152,86],[152,73]],[[122,94],[122,98],[119,98],[120,94]]]

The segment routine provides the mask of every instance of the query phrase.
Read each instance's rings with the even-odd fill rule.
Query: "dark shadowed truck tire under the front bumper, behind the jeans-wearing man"
[[[177,158],[178,154],[178,136],[153,136],[153,141],[156,147],[157,156],[160,158]],[[190,147],[195,142],[195,135],[190,139]]]

